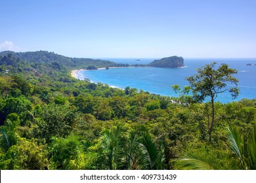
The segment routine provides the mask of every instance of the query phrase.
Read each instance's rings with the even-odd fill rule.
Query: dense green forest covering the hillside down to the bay
[[[0,54],[0,169],[256,168],[255,99],[214,103],[209,141],[211,103],[76,80],[115,63],[75,60]]]

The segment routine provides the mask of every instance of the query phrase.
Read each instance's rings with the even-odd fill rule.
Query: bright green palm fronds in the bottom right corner
[[[255,169],[256,123],[249,138],[238,133],[231,125],[227,129],[230,150],[236,154],[236,158],[227,150],[219,150],[214,146],[189,146],[182,151],[178,169]]]

